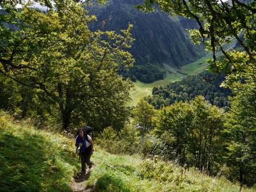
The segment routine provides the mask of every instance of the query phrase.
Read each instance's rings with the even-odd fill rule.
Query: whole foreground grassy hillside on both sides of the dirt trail
[[[113,155],[98,147],[92,161],[95,168],[86,184],[95,191],[239,191],[238,185],[226,179],[208,177],[193,169],[184,172],[172,163],[164,165],[173,170],[168,173],[171,181],[144,179],[140,156]],[[0,191],[70,191],[68,184],[79,171],[73,140],[36,130],[26,122],[13,122],[3,113],[0,164]]]

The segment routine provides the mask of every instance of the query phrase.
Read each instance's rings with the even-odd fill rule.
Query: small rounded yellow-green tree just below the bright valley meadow
[[[153,117],[156,112],[154,107],[148,104],[145,99],[140,99],[132,113],[134,122],[138,125],[143,134],[153,128]]]

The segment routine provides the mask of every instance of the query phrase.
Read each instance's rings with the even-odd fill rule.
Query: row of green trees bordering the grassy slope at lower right
[[[255,90],[251,87],[247,91],[248,99],[243,98],[246,93],[237,93],[230,100],[229,113],[202,96],[156,111],[141,100],[133,112],[141,136],[138,148],[146,156],[157,154],[183,166],[195,166],[210,175],[225,175],[253,186]]]

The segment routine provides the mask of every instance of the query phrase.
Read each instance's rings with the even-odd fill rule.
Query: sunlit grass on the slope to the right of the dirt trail
[[[86,184],[95,188],[95,191],[238,192],[240,189],[239,184],[233,184],[224,177],[209,177],[195,168],[184,170],[176,164],[161,160],[143,161],[136,155],[113,155],[96,148],[92,160],[95,168]],[[243,188],[243,191],[253,189]]]

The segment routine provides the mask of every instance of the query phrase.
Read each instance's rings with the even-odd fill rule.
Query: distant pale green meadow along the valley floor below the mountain
[[[185,74],[191,75],[204,71],[208,66],[206,60],[208,60],[209,58],[209,56],[205,56],[200,60],[189,63],[188,65],[184,65],[184,67],[182,67],[179,72],[177,71],[177,69],[168,67],[166,65],[166,70],[168,71],[168,74],[163,80],[155,81],[153,83],[142,83],[140,81],[137,81],[136,83],[134,83],[134,90],[132,90],[131,92],[131,106],[136,106],[141,98],[152,95],[152,88],[154,88],[154,86],[163,86],[168,83],[181,80],[185,76]]]

